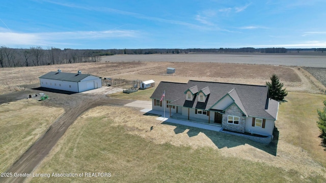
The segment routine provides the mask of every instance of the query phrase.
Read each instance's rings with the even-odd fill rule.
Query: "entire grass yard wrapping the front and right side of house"
[[[277,156],[269,153],[273,146],[161,123],[155,116],[140,115],[133,108],[100,106],[75,121],[34,173],[111,172],[113,182],[324,182],[324,151],[319,146],[314,108],[322,106],[326,97],[289,93],[286,99],[288,102],[281,105],[276,124],[280,132]],[[300,101],[305,101],[302,106],[297,104]],[[308,103],[312,103],[311,110],[306,109]],[[236,175],[232,173],[234,168]],[[263,178],[259,172],[264,172]],[[35,178],[33,182],[43,180]],[[60,178],[60,181],[108,180]]]

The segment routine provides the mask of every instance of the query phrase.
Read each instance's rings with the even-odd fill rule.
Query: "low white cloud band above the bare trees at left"
[[[13,33],[1,32],[0,40],[6,46],[15,45],[39,45],[39,46],[53,46],[53,45],[72,45],[79,40],[96,40],[96,39],[110,39],[110,38],[130,38],[138,37],[137,31],[130,30],[109,30],[109,31],[77,31],[77,32],[56,32],[56,33]],[[69,44],[66,41],[69,40]],[[75,40],[75,41],[74,41]],[[74,43],[75,42],[75,43]]]

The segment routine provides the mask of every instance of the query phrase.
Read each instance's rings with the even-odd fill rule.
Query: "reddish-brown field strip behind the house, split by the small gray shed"
[[[176,69],[174,76],[211,77],[211,78],[243,78],[269,80],[276,74],[282,81],[300,82],[301,79],[289,67],[262,66],[249,64],[223,63],[173,63],[170,67]],[[144,74],[138,72],[138,74]],[[147,70],[145,74],[167,75],[166,67],[157,67]]]

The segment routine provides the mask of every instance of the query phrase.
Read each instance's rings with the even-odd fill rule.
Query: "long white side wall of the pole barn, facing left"
[[[40,84],[41,87],[60,89],[69,92],[78,92],[77,82],[40,78]]]

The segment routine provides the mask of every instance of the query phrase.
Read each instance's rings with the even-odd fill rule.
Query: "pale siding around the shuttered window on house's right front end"
[[[265,121],[265,128],[261,127],[253,127],[252,126],[252,117],[247,117],[246,119],[246,126],[244,127],[244,131],[248,133],[254,133],[259,135],[273,135],[274,130],[274,120],[266,119]]]

